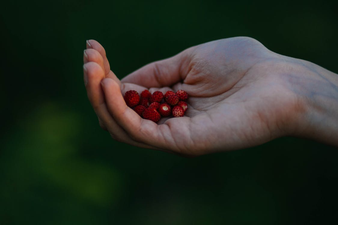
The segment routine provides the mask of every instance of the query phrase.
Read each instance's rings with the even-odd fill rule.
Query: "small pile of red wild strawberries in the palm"
[[[124,95],[127,106],[133,108],[142,118],[154,122],[158,122],[161,116],[182,117],[188,109],[187,100],[188,93],[184,90],[178,90],[176,93],[167,91],[165,94],[161,91],[151,94],[144,90],[141,97],[137,91],[130,90]]]

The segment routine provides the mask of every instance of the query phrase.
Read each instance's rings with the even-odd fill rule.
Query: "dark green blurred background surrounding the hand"
[[[86,39],[122,78],[190,46],[256,38],[338,72],[337,1],[6,1],[0,224],[335,224],[338,151],[284,137],[193,159],[101,130]]]

